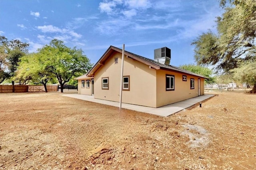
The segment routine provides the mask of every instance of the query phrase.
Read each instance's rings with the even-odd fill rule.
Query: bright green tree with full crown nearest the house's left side
[[[66,47],[63,41],[53,39],[50,45],[39,49],[38,53],[45,59],[46,70],[56,76],[60,83],[61,92],[64,84],[69,82],[73,76],[85,74],[90,70],[92,64],[83,55],[82,49]]]

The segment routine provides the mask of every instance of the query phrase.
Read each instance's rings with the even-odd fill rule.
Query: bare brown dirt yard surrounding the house
[[[169,117],[58,92],[0,94],[0,169],[256,169],[256,95],[215,93]]]

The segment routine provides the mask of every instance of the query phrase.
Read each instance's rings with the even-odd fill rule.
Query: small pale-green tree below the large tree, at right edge
[[[250,93],[256,93],[256,64],[253,61],[246,61],[230,70],[233,73],[235,80],[238,80],[241,83],[253,84],[253,89]]]

